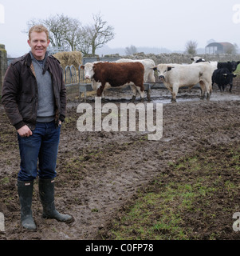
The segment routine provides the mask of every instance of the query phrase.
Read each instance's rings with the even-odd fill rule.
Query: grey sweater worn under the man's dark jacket
[[[31,52],[30,55],[33,60],[33,68],[37,78],[37,122],[52,122],[55,118],[52,78],[48,70],[43,74],[45,59],[48,56],[48,52],[43,61],[37,61]]]

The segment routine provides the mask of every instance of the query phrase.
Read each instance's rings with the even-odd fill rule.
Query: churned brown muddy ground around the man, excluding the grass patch
[[[163,138],[159,141],[148,141],[144,132],[80,132],[77,130],[79,102],[69,102],[68,117],[61,130],[55,190],[57,210],[73,214],[74,222],[67,225],[41,218],[36,180],[33,193],[36,232],[22,230],[20,224],[16,186],[18,142],[16,131],[0,105],[0,212],[5,216],[6,228],[0,238],[99,239],[99,231],[108,227],[108,222],[131,200],[136,190],[164,172],[169,162],[202,147],[238,143],[240,80],[235,80],[231,94],[220,93],[214,87],[210,102],[201,101],[199,94],[199,89],[180,90],[178,102],[171,104],[167,90],[152,90],[152,102],[163,102]],[[112,92],[106,97],[118,106],[119,98],[131,98],[126,93],[116,97]],[[88,102],[94,108],[93,98]],[[186,177],[186,182],[190,178]],[[240,211],[239,200],[233,203],[234,211]],[[222,202],[222,207],[224,204],[227,202]],[[219,222],[224,221],[221,216],[218,218]],[[204,232],[206,230],[202,238],[207,239]],[[231,226],[225,234],[226,239],[236,238]]]

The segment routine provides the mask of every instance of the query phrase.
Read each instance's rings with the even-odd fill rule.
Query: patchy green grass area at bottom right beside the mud
[[[211,240],[226,236],[225,225],[231,226],[234,210],[239,211],[239,159],[240,146],[232,146],[170,162],[124,206],[101,238]]]

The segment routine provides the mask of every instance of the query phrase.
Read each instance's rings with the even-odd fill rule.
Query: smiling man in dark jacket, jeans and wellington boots
[[[30,53],[11,63],[2,86],[2,103],[18,131],[21,157],[18,195],[22,226],[36,230],[32,216],[33,181],[39,181],[43,218],[72,222],[54,205],[54,178],[61,123],[65,120],[66,90],[60,63],[49,55],[49,32],[44,26],[29,31]],[[38,160],[38,170],[37,170]]]

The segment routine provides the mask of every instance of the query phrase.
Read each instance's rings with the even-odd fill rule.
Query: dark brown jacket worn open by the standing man
[[[49,55],[45,70],[52,76],[55,98],[55,121],[64,122],[66,114],[66,90],[63,74],[57,58]],[[44,71],[45,71],[44,70]],[[30,54],[16,59],[6,71],[2,86],[2,104],[10,122],[18,130],[22,126],[35,129],[37,119],[37,79]]]

